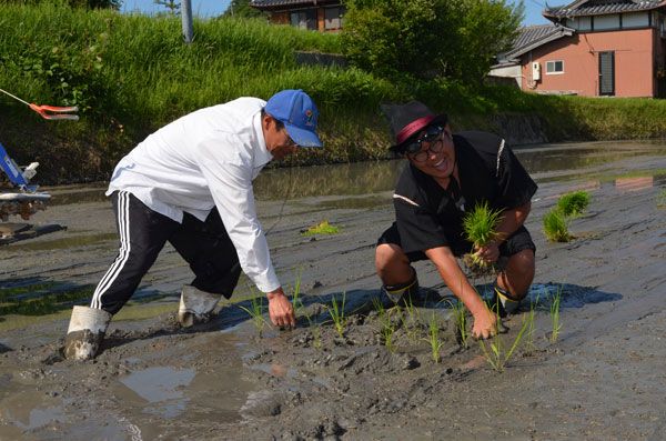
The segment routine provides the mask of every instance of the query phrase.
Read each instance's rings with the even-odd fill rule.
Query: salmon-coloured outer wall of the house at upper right
[[[615,51],[615,96],[655,97],[655,29],[576,33],[564,37],[521,60],[523,90],[575,91],[584,97],[599,94],[599,52]],[[563,60],[564,73],[547,74],[546,61]],[[532,62],[541,63],[541,80],[531,81]]]

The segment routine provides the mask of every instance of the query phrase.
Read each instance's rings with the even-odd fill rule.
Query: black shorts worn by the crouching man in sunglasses
[[[396,222],[393,222],[393,224],[382,233],[382,235],[377,240],[377,245],[382,243],[392,243],[402,247]],[[536,252],[536,245],[532,241],[529,231],[527,231],[525,225],[521,225],[516,231],[514,231],[512,235],[508,237],[508,239],[502,242],[502,244],[500,245],[500,255],[509,258],[523,250],[532,250]],[[453,241],[451,251],[456,258],[460,258],[463,254],[472,251],[472,242],[460,238]],[[405,253],[405,255],[407,257],[407,259],[410,259],[410,262],[427,260],[427,255],[425,255],[423,251],[412,251]]]

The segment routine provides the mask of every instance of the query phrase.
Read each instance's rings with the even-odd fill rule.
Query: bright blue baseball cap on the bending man
[[[283,90],[272,96],[264,108],[278,121],[281,121],[289,137],[301,147],[323,148],[316,134],[316,106],[303,90]]]

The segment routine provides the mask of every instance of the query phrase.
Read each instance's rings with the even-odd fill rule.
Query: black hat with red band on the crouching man
[[[446,126],[446,113],[435,114],[421,101],[410,101],[405,104],[381,106],[395,144],[389,150],[402,153],[414,137],[428,126]]]

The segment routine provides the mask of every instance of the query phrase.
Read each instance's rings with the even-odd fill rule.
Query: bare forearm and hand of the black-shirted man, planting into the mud
[[[496,333],[497,319],[494,313],[488,311],[481,297],[476,293],[465,273],[461,270],[455,257],[448,247],[438,247],[425,250],[425,255],[437,267],[442,279],[453,291],[453,293],[463,301],[465,307],[474,315],[474,328],[472,335],[476,338],[488,338]]]

